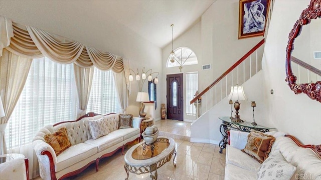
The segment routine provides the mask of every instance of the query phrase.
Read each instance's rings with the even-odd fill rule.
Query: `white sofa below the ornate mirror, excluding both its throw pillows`
[[[246,145],[248,133],[236,130],[230,130],[229,132],[229,144],[226,147],[226,180],[258,178],[257,174],[261,163],[240,150]],[[304,146],[295,137],[285,135],[284,132],[272,131],[265,133],[275,137],[269,155],[280,152],[286,163],[293,165],[293,169],[296,167],[290,179],[321,179],[321,145]]]

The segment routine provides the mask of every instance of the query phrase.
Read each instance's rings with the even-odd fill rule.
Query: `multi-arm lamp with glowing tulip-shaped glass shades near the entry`
[[[143,84],[144,84],[144,82],[145,82],[145,80],[146,80],[146,74],[149,74],[149,75],[147,76],[147,80],[148,80],[148,81],[151,81],[151,80],[152,80],[152,76],[151,76],[152,74],[157,73],[157,75],[159,75],[159,72],[152,72],[152,69],[148,69],[148,70],[146,71],[146,73],[145,73],[145,67],[142,68],[140,75],[139,75],[138,68],[137,68],[137,71],[136,71],[136,72],[135,72],[133,69],[129,68],[129,71],[130,71],[130,70],[133,72],[133,74],[136,74],[135,79],[136,79],[136,81],[137,81],[137,83],[138,83],[138,90],[139,90],[139,92],[141,92],[142,86],[143,86]],[[156,77],[155,77],[155,79],[154,79],[154,83],[158,83],[157,75],[156,75]],[[141,78],[140,78],[140,77],[141,77]],[[132,75],[131,73],[129,74],[128,79],[129,79],[129,81],[133,81],[134,77],[133,77],[133,75]]]

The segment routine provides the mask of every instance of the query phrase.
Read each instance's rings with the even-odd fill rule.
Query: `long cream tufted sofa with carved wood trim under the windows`
[[[63,179],[80,173],[92,163],[96,163],[98,171],[100,158],[110,156],[120,148],[123,153],[125,144],[140,141],[141,118],[133,117],[133,128],[118,129],[118,115],[89,112],[75,121],[59,122],[40,129],[32,144],[38,157],[40,176],[43,179]],[[88,121],[101,117],[106,120],[109,133],[93,140]],[[56,156],[44,135],[54,133],[60,127],[67,128],[71,146]]]

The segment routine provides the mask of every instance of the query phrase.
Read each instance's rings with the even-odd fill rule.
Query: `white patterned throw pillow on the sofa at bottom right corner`
[[[280,151],[275,151],[261,164],[260,169],[257,172],[257,179],[292,180],[296,179],[295,175],[293,175],[295,170],[296,167],[288,163]]]

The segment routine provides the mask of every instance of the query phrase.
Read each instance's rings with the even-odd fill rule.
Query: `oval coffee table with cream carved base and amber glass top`
[[[174,154],[176,157],[175,141],[171,137],[157,137],[157,140],[150,145],[144,141],[130,147],[125,154],[125,171],[128,180],[129,172],[143,174],[150,172],[151,179],[157,179],[157,168],[169,162]],[[154,174],[152,174],[152,172]]]

